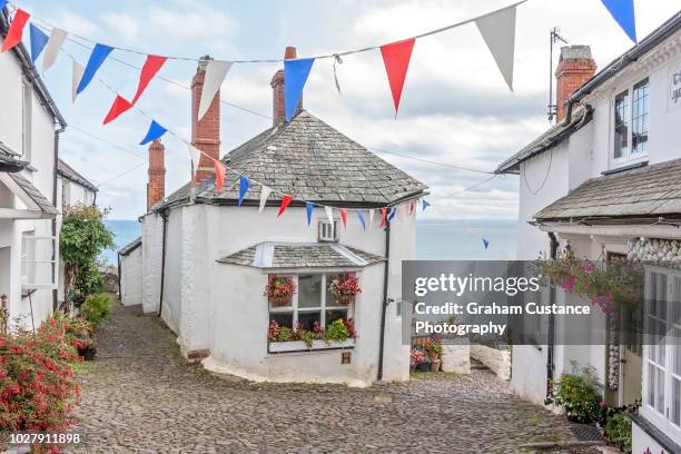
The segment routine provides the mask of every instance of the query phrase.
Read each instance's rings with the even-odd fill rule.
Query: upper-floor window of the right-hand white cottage
[[[638,159],[648,154],[649,112],[648,79],[615,96],[612,155],[615,164]]]

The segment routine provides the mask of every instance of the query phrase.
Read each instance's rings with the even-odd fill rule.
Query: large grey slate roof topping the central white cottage
[[[263,181],[297,199],[345,205],[387,204],[417,196],[427,186],[384,161],[308,111],[302,109],[290,121],[269,128],[235,148],[223,161],[230,168]],[[228,171],[219,196],[215,179],[197,188],[197,200],[227,203],[238,199],[238,176]],[[187,199],[189,184],[168,196],[158,208]],[[261,186],[251,181],[245,200],[258,203]]]

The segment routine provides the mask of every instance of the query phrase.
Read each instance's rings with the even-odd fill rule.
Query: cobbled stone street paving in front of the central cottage
[[[367,389],[255,384],[187,365],[157,317],[114,306],[82,375],[87,442],[67,452],[515,453],[573,440],[486,371]]]

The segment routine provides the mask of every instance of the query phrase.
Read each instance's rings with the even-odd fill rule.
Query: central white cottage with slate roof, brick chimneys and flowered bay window
[[[286,58],[295,58],[287,48]],[[218,158],[219,96],[196,120],[205,63],[193,81],[193,142]],[[408,378],[408,346],[401,339],[401,263],[414,258],[415,211],[426,187],[299,106],[284,120],[284,71],[272,79],[274,125],[223,157],[251,178],[243,206],[238,178],[215,193],[210,160],[195,181],[162,197],[162,146],[150,147],[149,206],[141,217],[141,303],[178,335],[182,354],[206,368],[255,381],[346,383]],[[256,182],[257,181],[257,182]],[[264,187],[273,193],[259,205]],[[265,189],[266,190],[266,189]],[[294,200],[282,216],[280,194],[336,207],[333,219]],[[379,227],[382,207],[396,207]],[[338,208],[348,209],[347,227]],[[362,210],[367,228],[356,213]],[[375,218],[369,223],[369,213]],[[260,213],[261,211],[261,213]],[[122,276],[134,260],[122,264]],[[328,285],[354,274],[356,300],[338,305]],[[293,300],[275,307],[264,296],[270,276],[290,277]],[[128,289],[124,288],[124,294]],[[344,342],[268,342],[268,326],[313,329],[353,318]]]

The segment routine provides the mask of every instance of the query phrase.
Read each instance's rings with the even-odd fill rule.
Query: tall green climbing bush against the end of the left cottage
[[[67,207],[59,235],[59,250],[65,263],[66,296],[72,297],[71,287],[85,296],[97,292],[103,283],[97,272],[97,257],[114,247],[114,234],[103,224],[108,210],[97,206]]]

